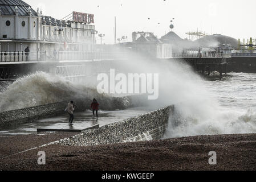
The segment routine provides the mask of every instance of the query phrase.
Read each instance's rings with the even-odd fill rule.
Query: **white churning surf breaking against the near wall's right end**
[[[256,113],[251,109],[243,113],[211,105],[201,107],[199,113],[192,110],[184,104],[176,105],[164,138],[256,133]]]

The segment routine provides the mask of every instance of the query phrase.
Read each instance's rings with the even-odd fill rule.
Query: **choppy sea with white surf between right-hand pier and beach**
[[[226,81],[202,81],[209,94],[207,100],[214,102],[197,102],[200,113],[184,102],[177,104],[165,138],[256,133],[255,78],[247,73],[229,73]]]

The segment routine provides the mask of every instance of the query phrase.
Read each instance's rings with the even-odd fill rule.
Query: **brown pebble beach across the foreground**
[[[43,144],[58,137],[25,136],[21,147],[1,138],[1,156]],[[67,134],[63,134],[64,135]],[[32,136],[32,137],[31,137]],[[44,139],[44,138],[48,139]],[[67,136],[66,136],[67,137]],[[29,139],[30,138],[30,139]],[[51,138],[51,139],[50,139]],[[30,140],[30,142],[28,141]],[[42,140],[42,142],[38,141]],[[16,142],[17,143],[17,142]],[[24,147],[22,147],[24,145]],[[3,147],[3,148],[2,148]],[[2,152],[3,151],[3,152]],[[46,165],[37,164],[37,152],[46,152]],[[210,166],[210,151],[217,152],[217,165]],[[111,144],[104,146],[47,146],[0,160],[0,170],[255,170],[256,134],[213,135]]]

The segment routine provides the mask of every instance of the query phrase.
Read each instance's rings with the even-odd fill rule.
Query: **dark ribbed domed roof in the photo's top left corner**
[[[19,16],[28,16],[29,8],[32,16],[38,16],[30,5],[21,0],[0,0],[1,15],[15,15],[15,7],[18,7]]]

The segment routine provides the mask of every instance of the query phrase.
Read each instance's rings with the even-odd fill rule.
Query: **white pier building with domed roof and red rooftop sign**
[[[94,15],[74,12],[73,20],[44,16],[21,0],[0,0],[0,52],[92,51]]]

